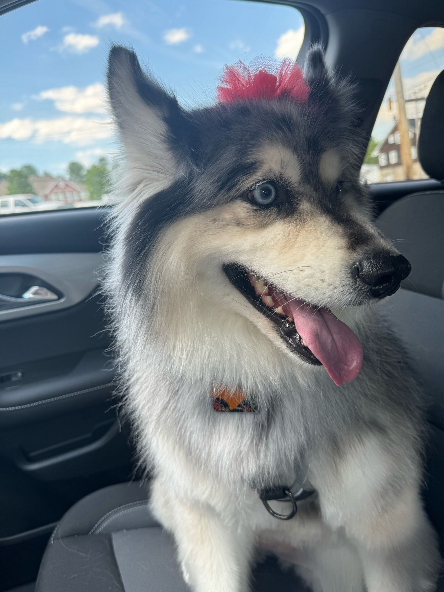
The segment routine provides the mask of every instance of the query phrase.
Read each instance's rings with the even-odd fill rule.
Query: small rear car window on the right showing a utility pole
[[[417,144],[426,98],[444,69],[444,28],[410,37],[395,67],[369,142],[361,176],[368,183],[427,179]]]

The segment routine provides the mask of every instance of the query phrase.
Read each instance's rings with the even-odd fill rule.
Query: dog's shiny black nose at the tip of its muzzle
[[[375,298],[394,294],[401,281],[411,272],[411,265],[402,255],[387,252],[372,253],[355,263],[358,282],[366,286]]]

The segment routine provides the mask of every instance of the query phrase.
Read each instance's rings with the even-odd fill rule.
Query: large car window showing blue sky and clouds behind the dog
[[[304,37],[287,5],[227,0],[44,0],[0,22],[0,196],[47,207],[107,202],[115,133],[104,70],[111,43],[132,46],[188,108],[214,101],[223,66],[295,59]],[[41,208],[33,208],[33,213]]]

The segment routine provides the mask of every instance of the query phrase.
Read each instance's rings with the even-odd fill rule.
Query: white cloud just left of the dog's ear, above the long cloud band
[[[34,98],[54,101],[54,107],[66,113],[106,112],[105,88],[101,82],[82,89],[77,86],[50,88],[47,91],[41,91]]]

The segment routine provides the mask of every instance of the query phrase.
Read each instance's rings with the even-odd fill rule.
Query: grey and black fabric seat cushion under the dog
[[[95,491],[60,520],[41,564],[36,592],[189,592],[172,538],[153,519],[137,482]],[[303,592],[292,571],[267,559],[253,590]]]

